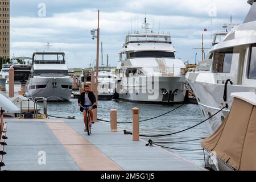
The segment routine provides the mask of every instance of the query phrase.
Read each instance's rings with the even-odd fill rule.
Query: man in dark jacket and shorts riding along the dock
[[[86,128],[86,115],[87,115],[87,113],[86,113],[86,110],[84,110],[83,107],[88,108],[91,119],[93,119],[92,110],[97,108],[96,97],[95,97],[94,93],[90,91],[90,86],[89,85],[84,86],[84,92],[82,92],[80,94],[80,97],[78,99],[78,104],[79,104],[79,107],[80,107],[80,111],[82,113],[84,113],[84,124],[85,124],[84,131],[86,132],[87,131],[87,128]],[[92,122],[92,123],[94,123],[94,122]]]

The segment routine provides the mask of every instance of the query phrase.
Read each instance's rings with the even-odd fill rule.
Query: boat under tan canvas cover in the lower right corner
[[[201,146],[218,170],[255,171],[256,91],[231,96],[234,101],[225,121]]]

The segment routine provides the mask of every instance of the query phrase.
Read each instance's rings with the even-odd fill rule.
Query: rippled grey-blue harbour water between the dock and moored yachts
[[[147,119],[157,115],[166,113],[178,105],[167,106],[167,105],[152,105],[152,104],[137,104],[132,102],[124,101],[99,101],[98,106],[98,118],[110,121],[110,109],[117,109],[118,122],[131,122],[131,109],[137,106],[140,109],[140,118]],[[79,111],[77,106],[77,99],[73,99],[69,102],[49,102],[48,103],[48,114],[58,115],[61,117],[75,116],[76,118],[82,119],[82,113]],[[188,104],[180,107],[179,109],[164,115],[163,117],[156,118],[150,121],[144,121],[140,123],[140,133],[144,135],[158,135],[158,134],[169,134],[176,131],[187,129],[197,123],[203,121],[199,106],[194,104]],[[118,130],[131,131],[130,124],[118,124]],[[144,140],[151,139],[155,142],[176,142],[180,140],[191,140],[208,137],[209,133],[206,129],[205,124],[199,125],[194,129],[185,131],[167,137],[155,137],[147,138],[142,137]],[[201,149],[200,140],[186,143],[164,143],[163,146],[172,148],[183,148],[183,149]],[[146,146],[145,146],[146,147]],[[184,159],[187,159],[193,163],[199,164],[204,167],[204,156],[203,151],[177,151],[167,149],[174,154],[177,154]]]

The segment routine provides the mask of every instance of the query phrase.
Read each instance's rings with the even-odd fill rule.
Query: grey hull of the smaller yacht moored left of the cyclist
[[[53,102],[69,101],[72,84],[73,80],[69,77],[33,77],[28,80],[26,96],[32,98],[44,97]],[[36,88],[36,86],[39,88]],[[45,88],[43,88],[44,86]]]

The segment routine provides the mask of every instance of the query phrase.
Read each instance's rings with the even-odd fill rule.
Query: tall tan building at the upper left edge
[[[0,57],[10,57],[10,0],[0,0]]]

